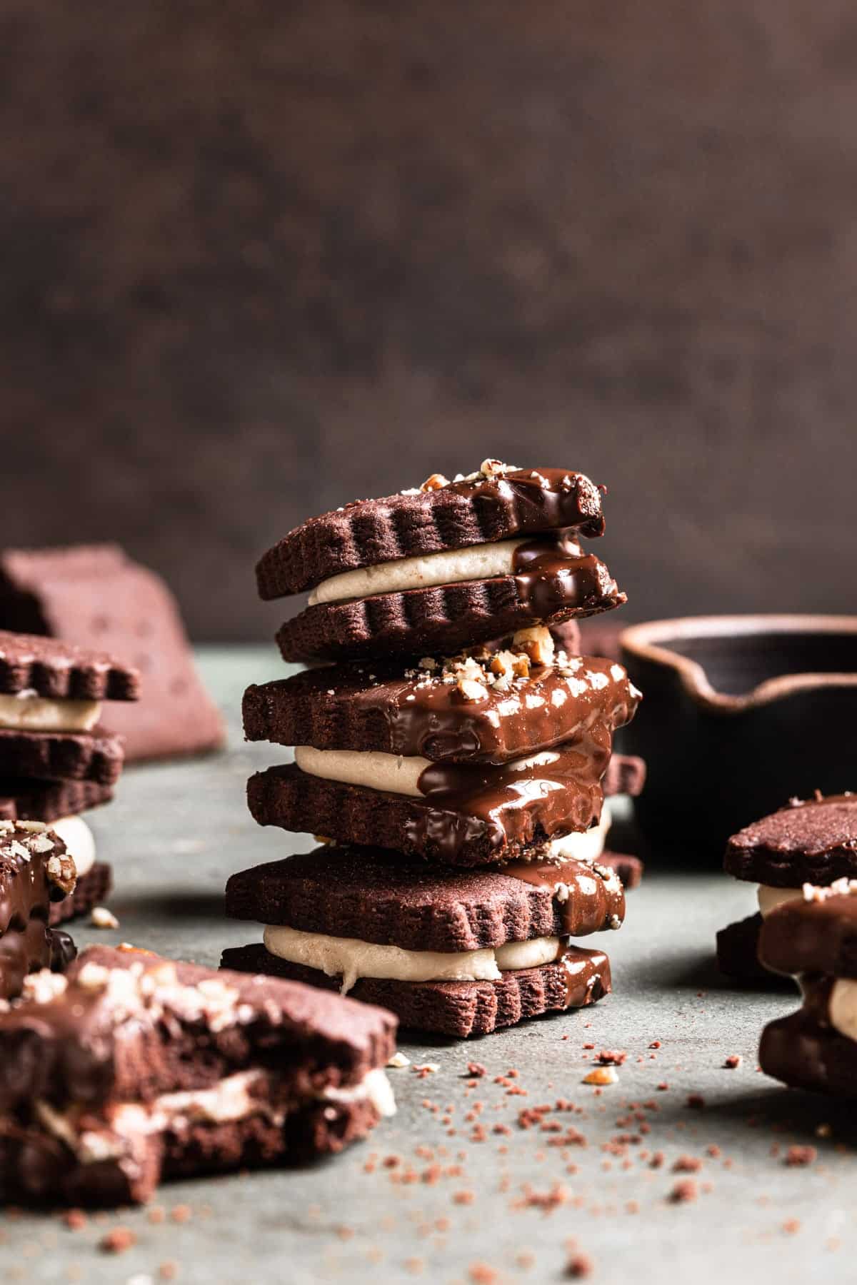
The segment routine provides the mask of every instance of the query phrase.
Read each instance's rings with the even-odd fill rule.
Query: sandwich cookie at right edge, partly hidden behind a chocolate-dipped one
[[[717,934],[718,968],[739,980],[776,984],[758,959],[762,923],[777,906],[799,900],[804,883],[857,876],[857,794],[791,799],[732,835],[723,869],[758,884],[759,911]]]

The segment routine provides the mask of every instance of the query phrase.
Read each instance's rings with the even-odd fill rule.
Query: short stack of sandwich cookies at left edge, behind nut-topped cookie
[[[109,892],[80,816],[108,803],[125,761],[121,736],[102,723],[104,700],[136,700],[137,671],[103,651],[57,639],[0,632],[0,819],[48,822],[77,869],[77,885],[51,924],[91,910]]]

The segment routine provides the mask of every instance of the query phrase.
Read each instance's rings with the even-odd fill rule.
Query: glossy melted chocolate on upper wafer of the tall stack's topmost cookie
[[[585,536],[604,535],[600,496],[588,478],[568,469],[518,469],[492,478],[450,482],[445,487],[456,495],[479,499],[506,499],[515,504],[522,531],[549,527],[574,527]]]

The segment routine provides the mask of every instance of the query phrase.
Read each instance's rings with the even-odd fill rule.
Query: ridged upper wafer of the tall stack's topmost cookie
[[[260,596],[314,589],[342,572],[554,528],[604,532],[601,492],[582,473],[519,469],[429,491],[357,500],[310,518],[262,555]]]

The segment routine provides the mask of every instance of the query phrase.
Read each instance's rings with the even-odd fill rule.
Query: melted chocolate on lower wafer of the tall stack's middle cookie
[[[612,749],[612,731],[596,722],[573,744],[545,752],[545,762],[430,763],[419,788],[427,807],[409,821],[409,839],[433,847],[442,861],[455,861],[466,842],[487,830],[490,847],[588,830],[601,816],[601,776]]]

